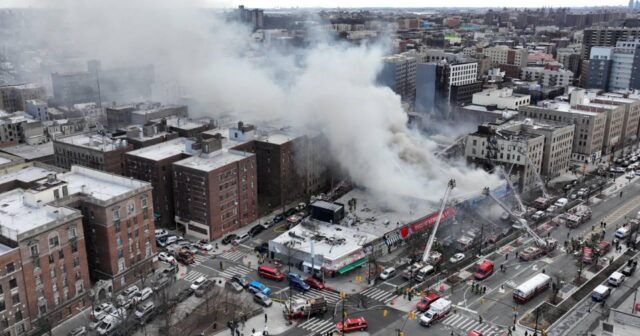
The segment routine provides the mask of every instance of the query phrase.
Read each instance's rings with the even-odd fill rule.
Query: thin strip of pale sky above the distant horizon
[[[0,8],[24,8],[55,6],[57,3],[79,3],[82,0],[0,0]],[[136,2],[136,0],[132,0]],[[245,5],[250,8],[275,7],[584,7],[584,6],[626,6],[628,0],[184,0],[184,4],[206,7],[237,7]]]

